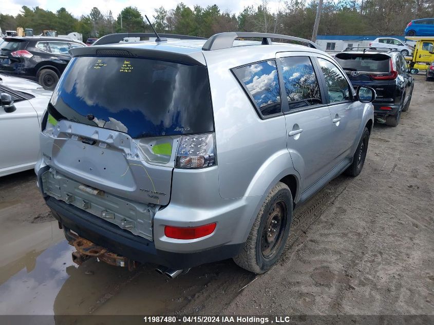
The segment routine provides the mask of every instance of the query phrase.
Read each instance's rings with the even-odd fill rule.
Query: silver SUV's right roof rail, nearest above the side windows
[[[211,36],[203,45],[202,50],[204,51],[213,51],[213,50],[221,50],[226,48],[231,48],[234,46],[235,39],[239,37],[242,38],[262,38],[263,45],[271,45],[271,39],[281,39],[281,40],[289,40],[300,43],[305,43],[307,46],[320,49],[319,46],[312,41],[306,39],[300,39],[299,37],[280,35],[280,34],[271,34],[271,33],[249,33],[249,32],[226,32],[226,33],[218,33]]]

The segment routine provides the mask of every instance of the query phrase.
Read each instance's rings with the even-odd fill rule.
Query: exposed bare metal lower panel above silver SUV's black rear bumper
[[[152,220],[155,204],[120,198],[74,181],[51,168],[42,175],[44,193],[74,205],[92,215],[128,230],[134,235],[153,240]]]

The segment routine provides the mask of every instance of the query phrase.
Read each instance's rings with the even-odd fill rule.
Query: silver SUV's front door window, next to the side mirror
[[[330,103],[351,100],[351,88],[342,72],[330,61],[318,58],[318,62],[324,73]]]

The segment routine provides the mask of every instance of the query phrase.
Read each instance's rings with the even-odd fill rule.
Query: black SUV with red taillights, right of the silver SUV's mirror
[[[397,126],[401,112],[410,107],[414,80],[401,52],[390,49],[347,48],[336,61],[347,73],[354,88],[375,89],[374,116],[377,121]]]

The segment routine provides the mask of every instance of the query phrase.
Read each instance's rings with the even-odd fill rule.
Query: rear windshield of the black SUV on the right
[[[335,59],[344,70],[389,72],[390,56],[384,54],[338,53]]]

